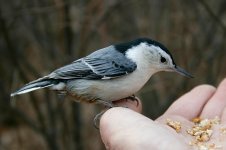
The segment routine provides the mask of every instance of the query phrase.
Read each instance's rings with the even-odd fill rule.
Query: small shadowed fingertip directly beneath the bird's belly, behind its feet
[[[113,103],[116,106],[122,106],[122,107],[126,107],[129,109],[132,109],[138,113],[141,113],[142,111],[142,102],[138,97],[135,97],[136,100],[132,100],[132,99],[121,99],[118,101],[114,101]]]

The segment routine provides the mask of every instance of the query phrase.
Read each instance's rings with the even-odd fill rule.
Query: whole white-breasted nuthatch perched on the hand
[[[51,87],[65,91],[77,101],[112,107],[112,101],[132,96],[159,71],[175,71],[192,77],[175,64],[161,43],[139,38],[97,50],[24,85],[11,96]]]

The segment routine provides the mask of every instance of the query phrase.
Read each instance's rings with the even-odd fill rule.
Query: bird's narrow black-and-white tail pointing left
[[[13,97],[13,96],[28,93],[28,92],[31,92],[34,90],[50,87],[50,86],[56,85],[57,83],[59,83],[59,82],[54,79],[49,79],[48,77],[39,78],[35,81],[32,81],[32,82],[24,85],[17,91],[11,93],[10,96]]]

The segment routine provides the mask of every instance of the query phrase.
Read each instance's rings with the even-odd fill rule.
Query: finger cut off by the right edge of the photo
[[[226,107],[226,79],[218,86],[213,97],[206,103],[201,113],[203,118],[221,117]]]

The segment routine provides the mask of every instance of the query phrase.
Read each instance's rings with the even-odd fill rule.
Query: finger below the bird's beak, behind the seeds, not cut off
[[[216,91],[210,85],[200,85],[176,100],[164,115],[178,115],[191,120],[201,113],[204,105]]]

